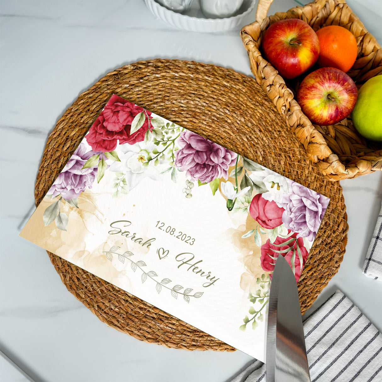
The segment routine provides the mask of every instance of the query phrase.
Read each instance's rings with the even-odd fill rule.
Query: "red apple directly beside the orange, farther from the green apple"
[[[310,69],[320,53],[316,33],[300,19],[272,24],[265,31],[262,47],[268,61],[285,78],[295,78]]]

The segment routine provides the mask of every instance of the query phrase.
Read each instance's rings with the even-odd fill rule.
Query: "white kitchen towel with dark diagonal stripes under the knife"
[[[382,380],[382,335],[339,290],[304,319],[311,382]],[[265,382],[255,361],[231,382]]]

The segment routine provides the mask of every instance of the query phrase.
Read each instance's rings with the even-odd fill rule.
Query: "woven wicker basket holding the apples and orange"
[[[273,0],[259,0],[256,21],[241,30],[241,39],[248,51],[251,70],[256,81],[267,92],[297,139],[304,145],[308,158],[317,162],[319,170],[329,180],[355,178],[382,170],[382,150],[378,142],[360,136],[351,117],[332,126],[313,125],[295,100],[297,81],[286,82],[262,56],[264,31],[276,21],[299,18],[314,31],[328,25],[340,25],[354,34],[358,55],[348,75],[357,87],[382,71],[382,49],[376,39],[351,11],[345,0],[315,0],[286,12],[267,16]]]

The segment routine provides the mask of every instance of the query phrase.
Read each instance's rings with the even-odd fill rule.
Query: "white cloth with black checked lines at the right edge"
[[[363,265],[363,273],[367,277],[372,277],[382,281],[382,207],[378,215],[376,229]]]

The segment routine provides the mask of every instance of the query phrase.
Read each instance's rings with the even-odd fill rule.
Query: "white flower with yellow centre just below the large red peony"
[[[129,191],[146,176],[152,180],[159,180],[160,172],[163,171],[162,164],[165,161],[160,160],[157,166],[154,165],[154,160],[151,160],[148,166],[143,165],[143,163],[147,162],[147,157],[155,147],[152,142],[147,142],[147,144],[139,142],[133,145],[123,144],[118,146],[123,153],[119,155],[121,162],[113,162],[110,165],[110,171],[125,173]]]

